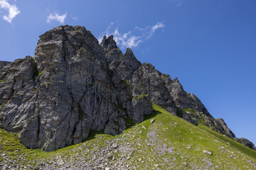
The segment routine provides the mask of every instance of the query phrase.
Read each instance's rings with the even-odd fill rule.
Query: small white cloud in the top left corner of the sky
[[[3,8],[9,12],[7,16],[4,15],[3,17],[3,19],[5,21],[8,21],[9,23],[11,23],[13,18],[16,17],[18,13],[21,12],[21,11],[18,11],[18,8],[16,5],[11,5],[6,0],[0,0],[0,8]]]

